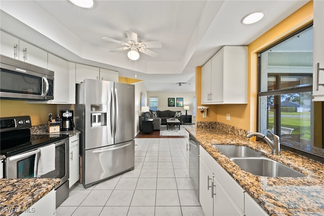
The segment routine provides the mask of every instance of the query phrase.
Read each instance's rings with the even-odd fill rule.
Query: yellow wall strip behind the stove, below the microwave
[[[30,116],[31,124],[47,124],[49,113],[55,118],[56,104],[26,103],[20,100],[0,100],[0,117]]]

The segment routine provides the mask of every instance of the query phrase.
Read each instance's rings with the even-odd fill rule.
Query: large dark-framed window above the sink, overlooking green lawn
[[[312,25],[258,53],[259,132],[312,143],[312,65]]]

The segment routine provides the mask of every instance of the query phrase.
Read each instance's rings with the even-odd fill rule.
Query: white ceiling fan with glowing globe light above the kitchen
[[[131,60],[137,60],[140,57],[138,51],[140,51],[141,53],[144,53],[148,56],[151,56],[151,57],[158,56],[157,52],[148,50],[147,48],[161,48],[162,45],[159,41],[141,42],[141,40],[138,38],[137,33],[134,33],[133,31],[130,31],[130,30],[126,30],[126,34],[127,34],[127,42],[121,42],[121,41],[117,41],[115,39],[106,38],[106,37],[102,38],[105,41],[110,41],[110,42],[121,44],[121,45],[125,46],[125,47],[109,50],[109,52],[118,52],[118,51],[130,49],[130,51],[127,53],[127,56]]]

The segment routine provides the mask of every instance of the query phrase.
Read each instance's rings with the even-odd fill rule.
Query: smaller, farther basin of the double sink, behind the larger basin
[[[236,145],[213,145],[215,149],[220,151],[228,158],[247,158],[261,157],[262,155],[248,147]]]

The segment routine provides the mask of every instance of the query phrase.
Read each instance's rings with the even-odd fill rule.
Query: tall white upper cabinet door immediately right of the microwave
[[[68,103],[69,73],[67,61],[49,53],[49,70],[54,71],[54,100],[51,103]]]

